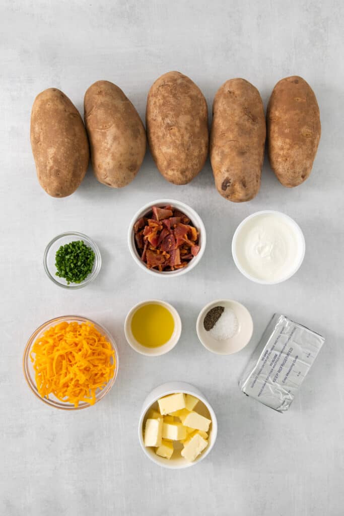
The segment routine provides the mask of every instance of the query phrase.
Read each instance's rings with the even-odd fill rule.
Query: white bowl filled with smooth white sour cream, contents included
[[[281,212],[257,212],[239,224],[232,242],[236,266],[258,283],[280,283],[300,267],[305,242],[298,224]]]

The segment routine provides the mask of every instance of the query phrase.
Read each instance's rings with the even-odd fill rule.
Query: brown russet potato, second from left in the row
[[[84,119],[96,179],[122,188],[135,178],[146,152],[146,133],[121,88],[98,80],[85,93]]]

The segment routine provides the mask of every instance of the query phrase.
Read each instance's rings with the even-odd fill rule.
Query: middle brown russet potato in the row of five
[[[208,107],[202,91],[180,72],[161,75],[147,98],[146,129],[163,177],[185,185],[202,170],[208,155]]]

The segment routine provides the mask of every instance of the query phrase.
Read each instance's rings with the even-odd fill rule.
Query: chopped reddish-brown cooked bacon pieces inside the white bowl
[[[152,206],[135,222],[134,233],[137,251],[149,269],[181,269],[200,251],[198,230],[172,206]]]

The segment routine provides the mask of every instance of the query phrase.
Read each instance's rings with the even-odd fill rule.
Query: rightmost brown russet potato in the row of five
[[[312,171],[320,135],[320,112],[314,91],[297,75],[274,87],[267,110],[268,153],[277,179],[289,188]]]

